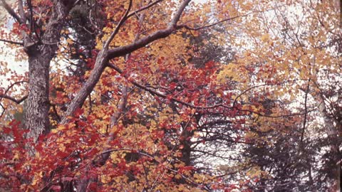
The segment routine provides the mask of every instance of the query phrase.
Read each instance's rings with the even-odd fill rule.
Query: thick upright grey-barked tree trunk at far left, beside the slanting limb
[[[58,41],[68,12],[74,1],[53,1],[53,12],[43,36],[24,36],[24,50],[28,55],[28,99],[24,127],[28,137],[36,142],[41,133],[49,132],[48,100],[49,68],[58,50]]]

